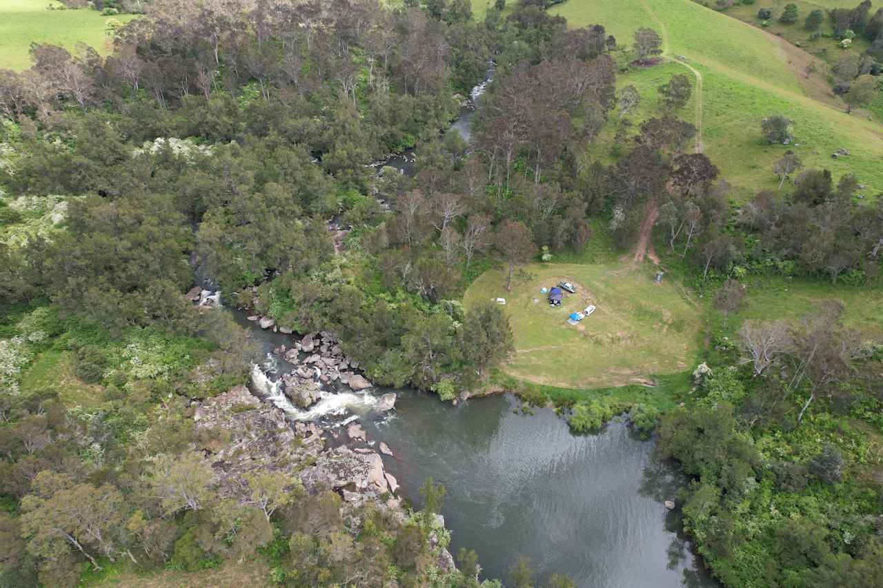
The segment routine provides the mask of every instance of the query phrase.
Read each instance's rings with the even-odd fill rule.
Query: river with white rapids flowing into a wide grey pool
[[[486,85],[473,89],[473,101]],[[472,115],[464,108],[452,125],[466,140]],[[413,152],[385,164],[411,175]],[[200,283],[210,286],[201,275]],[[319,403],[300,411],[278,382],[292,366],[272,353],[290,347],[291,336],[261,329],[243,312],[225,312],[251,330],[266,356],[253,370],[260,396],[294,419],[329,425],[358,418],[370,439],[389,444],[395,456],[383,456],[384,465],[417,506],[425,479],[445,486],[451,551],[475,549],[482,577],[505,579],[525,556],[538,585],[553,573],[592,588],[718,585],[692,554],[677,511],[664,505],[683,479],[673,464],[655,460],[653,441],[638,440],[622,419],[600,433],[574,435],[554,411],[522,413],[511,395],[452,406],[413,390],[394,390],[396,409],[378,414],[376,399],[389,390],[339,386],[326,386]]]

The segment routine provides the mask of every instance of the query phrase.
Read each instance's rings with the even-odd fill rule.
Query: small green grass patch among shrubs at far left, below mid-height
[[[88,408],[101,403],[102,387],[80,381],[76,368],[73,351],[44,351],[22,376],[22,394],[55,390],[65,406]]]

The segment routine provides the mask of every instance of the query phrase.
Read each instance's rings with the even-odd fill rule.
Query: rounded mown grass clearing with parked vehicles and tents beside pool
[[[464,296],[467,308],[506,298],[516,347],[507,375],[549,389],[608,388],[695,363],[698,310],[675,283],[654,286],[649,266],[535,264],[524,274],[506,292],[502,272],[488,271]],[[551,307],[540,288],[561,280],[575,283],[577,294]],[[567,324],[570,313],[589,304],[597,306],[592,316]]]

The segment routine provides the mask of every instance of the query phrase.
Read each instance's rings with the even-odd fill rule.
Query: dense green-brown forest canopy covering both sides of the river
[[[657,63],[652,29],[632,44],[532,0],[483,22],[467,0],[110,4],[95,3],[145,16],[109,57],[34,44],[29,70],[0,70],[3,585],[255,553],[283,585],[479,584],[475,554],[438,565],[431,482],[425,509],[397,517],[374,503],[342,516],[338,494],[307,492],[306,454],[216,479],[230,432],[192,417],[248,381],[258,351],[229,314],[185,298],[194,268],[228,305],[333,333],[374,383],[445,400],[513,350],[501,307],[466,310],[464,289],[493,266],[511,288],[541,248],[553,259],[609,237],[629,250],[653,230],[727,318],[752,275],[880,286],[883,197],[858,200],[860,177],[786,153],[779,192],[731,201],[682,119],[683,75],[633,120],[645,99],[616,77]],[[879,28],[879,13],[865,20],[864,34]],[[449,124],[489,70],[466,142]],[[605,124],[615,139],[598,145]],[[790,124],[770,113],[758,141],[789,142]],[[413,177],[382,164],[411,147]],[[688,404],[661,420],[608,398],[564,407],[578,430],[624,410],[640,430],[660,422],[660,454],[692,479],[685,525],[727,585],[883,577],[861,433],[879,434],[883,348],[842,313],[827,302],[710,341]],[[64,359],[87,402],[24,381],[37,356]],[[525,567],[513,584],[531,585]]]

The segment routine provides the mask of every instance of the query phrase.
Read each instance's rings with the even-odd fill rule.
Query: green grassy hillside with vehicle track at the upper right
[[[883,191],[883,126],[803,94],[781,41],[774,35],[691,0],[569,0],[552,9],[570,26],[600,23],[621,45],[630,45],[639,26],[651,26],[666,39],[671,56],[684,56],[704,80],[702,94],[705,152],[721,168],[722,176],[743,186],[744,194],[774,188],[774,162],[787,148],[795,149],[806,167],[826,167],[835,177],[852,172],[869,186],[867,192]],[[660,64],[664,75],[646,68],[632,68],[619,76],[620,87],[634,84],[646,106],[633,115],[639,121],[657,111],[655,88],[660,77],[687,73],[683,65]],[[647,100],[649,98],[649,100]],[[649,107],[649,108],[648,108]],[[760,120],[781,113],[794,121],[800,147],[765,145]],[[692,121],[692,107],[681,116]],[[612,123],[608,123],[612,124]],[[831,159],[840,148],[852,155]]]

